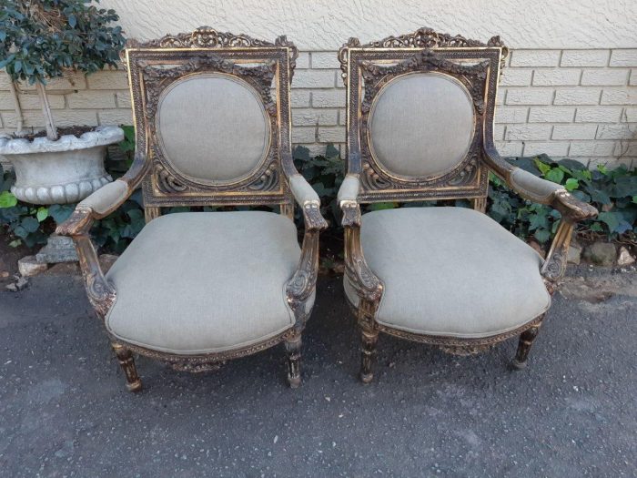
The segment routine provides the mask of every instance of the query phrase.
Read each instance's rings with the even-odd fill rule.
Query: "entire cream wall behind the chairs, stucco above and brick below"
[[[102,0],[126,35],[147,39],[198,25],[299,46],[292,82],[292,141],[344,151],[345,89],[337,50],[429,25],[481,40],[501,35],[511,56],[501,77],[495,140],[505,156],[546,153],[593,166],[637,166],[637,0]],[[72,80],[72,81],[69,81]],[[0,132],[16,117],[0,73]],[[131,124],[124,71],[57,79],[48,86],[59,126]],[[22,86],[25,127],[43,126],[33,87]]]

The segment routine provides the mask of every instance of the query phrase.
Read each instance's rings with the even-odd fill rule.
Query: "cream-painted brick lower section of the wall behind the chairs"
[[[502,155],[637,166],[637,49],[515,50],[507,61],[495,127]],[[131,123],[124,72],[71,79],[49,85],[58,125]],[[20,98],[25,125],[41,126],[35,90],[25,88]],[[344,151],[345,89],[336,52],[299,54],[291,103],[295,144],[315,154],[328,143]],[[5,132],[15,127],[5,75],[0,118]]]

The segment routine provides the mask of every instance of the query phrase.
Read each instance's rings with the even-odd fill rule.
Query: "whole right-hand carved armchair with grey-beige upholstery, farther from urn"
[[[379,331],[467,354],[520,336],[531,343],[566,268],[573,224],[597,211],[504,161],[493,144],[507,48],[422,28],[339,51],[347,86],[348,174],[339,190],[344,285],[362,331],[362,381]],[[489,171],[561,223],[546,261],[485,212]],[[360,204],[470,198],[473,208]],[[364,255],[363,255],[364,252]]]

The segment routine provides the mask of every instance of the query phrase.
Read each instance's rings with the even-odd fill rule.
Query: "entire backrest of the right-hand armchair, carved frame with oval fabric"
[[[483,147],[507,53],[498,36],[483,44],[429,28],[349,39],[339,60],[361,202],[486,197]]]

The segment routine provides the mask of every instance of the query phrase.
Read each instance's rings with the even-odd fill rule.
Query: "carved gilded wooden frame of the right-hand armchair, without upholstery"
[[[351,303],[361,329],[361,369],[364,382],[373,378],[372,364],[379,332],[401,339],[440,347],[443,351],[466,355],[520,336],[513,362],[525,366],[532,341],[538,334],[544,314],[514,331],[480,339],[463,339],[440,335],[424,335],[401,331],[375,320],[383,294],[381,280],[374,274],[363,255],[360,243],[360,204],[379,201],[415,201],[469,198],[473,208],[486,212],[489,173],[506,181],[522,197],[551,205],[561,212],[562,220],[541,269],[550,294],[566,270],[566,259],[575,222],[594,216],[590,205],[558,189],[546,198],[538,198],[511,181],[516,169],[498,154],[493,141],[498,80],[505,64],[508,48],[499,36],[486,44],[463,36],[440,34],[420,28],[403,36],[388,36],[361,45],[349,38],[339,50],[339,62],[347,88],[347,166],[353,194],[339,197],[345,229],[345,274],[359,297],[358,307]],[[474,135],[469,150],[460,164],[450,172],[428,178],[400,178],[384,170],[374,158],[369,139],[368,117],[382,86],[390,80],[415,72],[452,76],[470,93],[474,107]],[[340,196],[340,194],[339,194]]]

